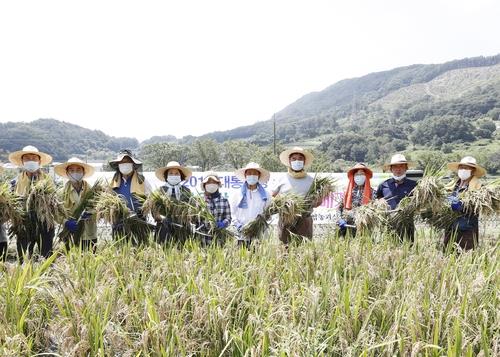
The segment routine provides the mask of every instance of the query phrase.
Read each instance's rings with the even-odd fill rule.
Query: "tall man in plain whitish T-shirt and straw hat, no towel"
[[[314,156],[309,151],[301,147],[294,147],[283,151],[280,154],[280,161],[288,168],[286,175],[277,182],[276,187],[271,191],[272,196],[293,192],[301,196],[306,196],[313,184],[313,177],[307,174],[307,169],[311,166]],[[315,207],[321,202],[316,202]],[[278,238],[284,244],[288,244],[292,235],[299,235],[312,239],[313,220],[312,212],[304,213],[297,219],[293,227],[285,227],[281,220],[278,221]]]

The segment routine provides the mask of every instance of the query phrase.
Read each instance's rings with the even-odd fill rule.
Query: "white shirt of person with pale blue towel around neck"
[[[238,205],[241,202],[241,191],[236,191],[229,197],[229,204],[231,206],[231,217],[233,219],[233,225],[237,226],[238,223],[245,225],[250,221],[253,221],[258,214],[264,211],[271,203],[271,197],[269,192],[266,191],[267,201],[262,200],[260,193],[257,189],[250,190],[247,189],[247,204],[248,208],[239,208]]]

